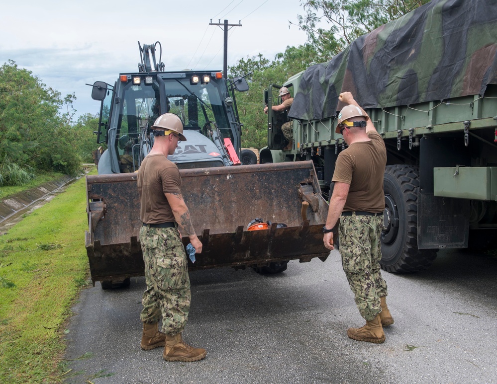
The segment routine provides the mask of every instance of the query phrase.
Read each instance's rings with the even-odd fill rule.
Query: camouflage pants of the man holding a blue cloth
[[[169,335],[182,332],[190,310],[190,277],[185,248],[176,228],[140,229],[147,290],[143,293],[141,321],[157,323]]]

